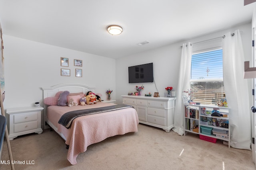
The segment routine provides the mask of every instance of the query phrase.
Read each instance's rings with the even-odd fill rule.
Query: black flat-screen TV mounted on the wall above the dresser
[[[128,67],[129,83],[153,82],[153,63]]]

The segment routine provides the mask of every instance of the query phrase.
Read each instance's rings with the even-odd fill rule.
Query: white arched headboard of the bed
[[[52,87],[42,87],[42,90],[44,92],[43,97],[48,98],[48,97],[54,97],[57,92],[60,91],[69,91],[70,93],[78,93],[78,92],[83,92],[86,94],[88,91],[94,92],[95,88],[94,87],[88,87],[84,84],[58,84],[56,86]],[[45,121],[47,119],[46,114],[47,113],[47,105],[44,104],[44,127],[45,127]]]

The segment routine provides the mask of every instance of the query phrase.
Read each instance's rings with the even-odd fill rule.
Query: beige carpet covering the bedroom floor
[[[9,160],[6,141],[2,160]],[[14,160],[34,164],[15,164],[15,170],[255,170],[252,152],[228,149],[220,140],[210,143],[198,135],[180,136],[174,131],[138,125],[138,132],[110,137],[90,145],[77,157],[78,164],[66,159],[64,141],[46,129],[42,134],[30,134],[10,141]],[[1,164],[1,170],[11,169]]]

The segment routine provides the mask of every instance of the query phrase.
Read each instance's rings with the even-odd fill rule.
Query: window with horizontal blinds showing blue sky
[[[210,105],[220,103],[225,94],[222,49],[193,54],[190,73],[193,101]]]

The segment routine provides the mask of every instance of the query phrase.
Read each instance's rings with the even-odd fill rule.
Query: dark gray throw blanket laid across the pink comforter
[[[58,123],[60,123],[61,125],[65,126],[67,129],[69,129],[72,121],[76,117],[84,116],[84,115],[92,115],[92,114],[96,114],[96,113],[104,113],[104,112],[108,112],[108,111],[125,109],[125,108],[129,108],[129,107],[133,107],[133,106],[130,106],[127,104],[118,104],[118,105],[113,105],[113,106],[69,111],[60,117],[60,120],[58,121]]]

